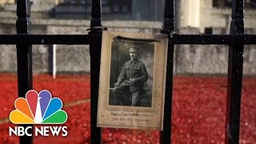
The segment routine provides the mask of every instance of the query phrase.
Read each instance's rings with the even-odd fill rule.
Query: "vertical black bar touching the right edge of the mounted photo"
[[[174,0],[166,0],[163,34],[170,35],[174,31]],[[166,68],[166,95],[165,108],[163,118],[163,130],[161,131],[160,143],[171,142],[171,114],[172,114],[172,98],[173,98],[173,70],[174,70],[174,44],[168,42],[167,68]]]

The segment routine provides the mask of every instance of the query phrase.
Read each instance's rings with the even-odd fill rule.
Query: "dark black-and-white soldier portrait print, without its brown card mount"
[[[112,85],[112,88],[110,88],[109,104],[150,107],[154,45],[134,43],[120,45],[119,43],[114,44],[113,48],[110,74],[110,87]],[[122,69],[119,70],[119,67]]]

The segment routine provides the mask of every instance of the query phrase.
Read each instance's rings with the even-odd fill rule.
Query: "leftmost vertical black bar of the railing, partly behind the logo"
[[[30,1],[17,1],[16,29],[17,34],[30,34]],[[22,43],[22,42],[19,42]],[[17,44],[17,66],[18,66],[18,97],[25,98],[26,92],[32,90],[32,46],[27,44]],[[21,125],[26,128],[33,125]],[[29,129],[33,134],[33,129]],[[33,137],[22,136],[19,142],[33,143]]]

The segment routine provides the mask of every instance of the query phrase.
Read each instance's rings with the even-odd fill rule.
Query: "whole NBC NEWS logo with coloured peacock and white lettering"
[[[42,90],[38,94],[35,90],[26,93],[26,98],[17,98],[14,102],[16,110],[10,113],[10,122],[14,124],[63,124],[67,120],[66,111],[62,109],[62,100],[60,98],[52,98],[50,91]],[[32,126],[15,126],[14,129],[9,127],[9,135],[32,136],[29,133]],[[62,136],[67,133],[66,126],[35,126],[34,135],[58,136],[62,131]]]

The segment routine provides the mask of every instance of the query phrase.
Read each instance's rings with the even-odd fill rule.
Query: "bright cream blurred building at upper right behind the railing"
[[[213,28],[222,28],[229,33],[232,0],[181,0],[180,27],[199,28],[201,33],[214,33]],[[256,0],[245,1],[245,26],[254,29],[256,24]]]

